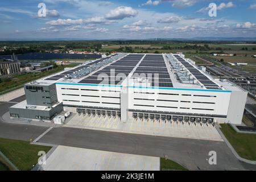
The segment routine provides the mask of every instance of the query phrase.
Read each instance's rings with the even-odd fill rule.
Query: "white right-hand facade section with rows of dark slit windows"
[[[230,92],[211,92],[210,90],[205,92],[185,89],[130,88],[129,109],[227,115],[230,94]]]

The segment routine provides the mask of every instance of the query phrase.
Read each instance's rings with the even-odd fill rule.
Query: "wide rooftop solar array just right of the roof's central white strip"
[[[163,55],[147,54],[131,77],[147,78],[147,86],[173,87]]]

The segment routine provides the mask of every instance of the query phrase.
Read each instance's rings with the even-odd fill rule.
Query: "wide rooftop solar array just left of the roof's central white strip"
[[[121,85],[143,56],[142,54],[127,55],[92,76],[84,78],[79,83]]]

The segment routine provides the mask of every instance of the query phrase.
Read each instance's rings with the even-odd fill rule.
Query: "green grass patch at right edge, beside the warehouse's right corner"
[[[221,131],[238,155],[248,160],[256,160],[256,134],[237,133],[229,124],[221,124]]]

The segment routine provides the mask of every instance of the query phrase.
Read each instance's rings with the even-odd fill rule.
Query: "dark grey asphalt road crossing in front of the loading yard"
[[[22,100],[22,97],[15,101]],[[11,105],[14,104],[0,103],[0,114],[6,113]],[[45,130],[47,127],[0,122],[0,138],[30,140],[37,138]],[[224,142],[208,140],[58,127],[49,131],[39,142],[127,154],[159,157],[168,155],[169,159],[192,170],[256,169],[256,166],[240,162]],[[208,163],[209,151],[217,152],[217,165]]]

